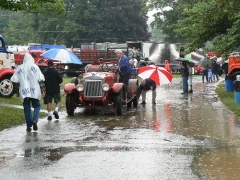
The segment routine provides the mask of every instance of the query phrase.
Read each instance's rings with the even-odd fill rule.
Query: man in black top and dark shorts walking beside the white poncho
[[[58,110],[61,105],[60,84],[63,82],[62,76],[54,68],[53,61],[48,61],[48,68],[44,72],[46,96],[44,104],[47,104],[48,120],[52,120],[52,114],[59,119]],[[54,99],[55,110],[52,113],[52,100]]]

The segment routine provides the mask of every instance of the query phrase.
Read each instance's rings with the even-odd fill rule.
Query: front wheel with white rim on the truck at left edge
[[[12,97],[14,94],[13,83],[10,78],[11,75],[7,75],[0,79],[0,96],[2,97]]]

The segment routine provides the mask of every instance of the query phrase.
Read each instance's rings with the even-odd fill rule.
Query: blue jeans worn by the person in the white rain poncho
[[[32,103],[32,107],[34,108],[33,115],[31,112],[31,104],[30,103]],[[40,101],[38,99],[26,97],[26,98],[24,98],[24,101],[23,101],[23,109],[24,109],[27,127],[32,127],[33,120],[38,122],[38,114],[40,112]]]

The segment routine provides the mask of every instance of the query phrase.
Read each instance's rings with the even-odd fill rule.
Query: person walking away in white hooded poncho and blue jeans
[[[23,64],[18,66],[11,77],[17,96],[23,102],[24,115],[27,124],[27,132],[37,131],[38,115],[40,112],[40,99],[45,96],[44,76],[39,67],[34,64],[33,57],[26,53]],[[31,112],[31,105],[34,108]]]

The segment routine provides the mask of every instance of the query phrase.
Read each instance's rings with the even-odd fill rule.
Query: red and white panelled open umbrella
[[[150,78],[154,80],[158,86],[172,82],[172,74],[165,68],[155,65],[141,67],[138,70],[138,76],[142,79]]]

